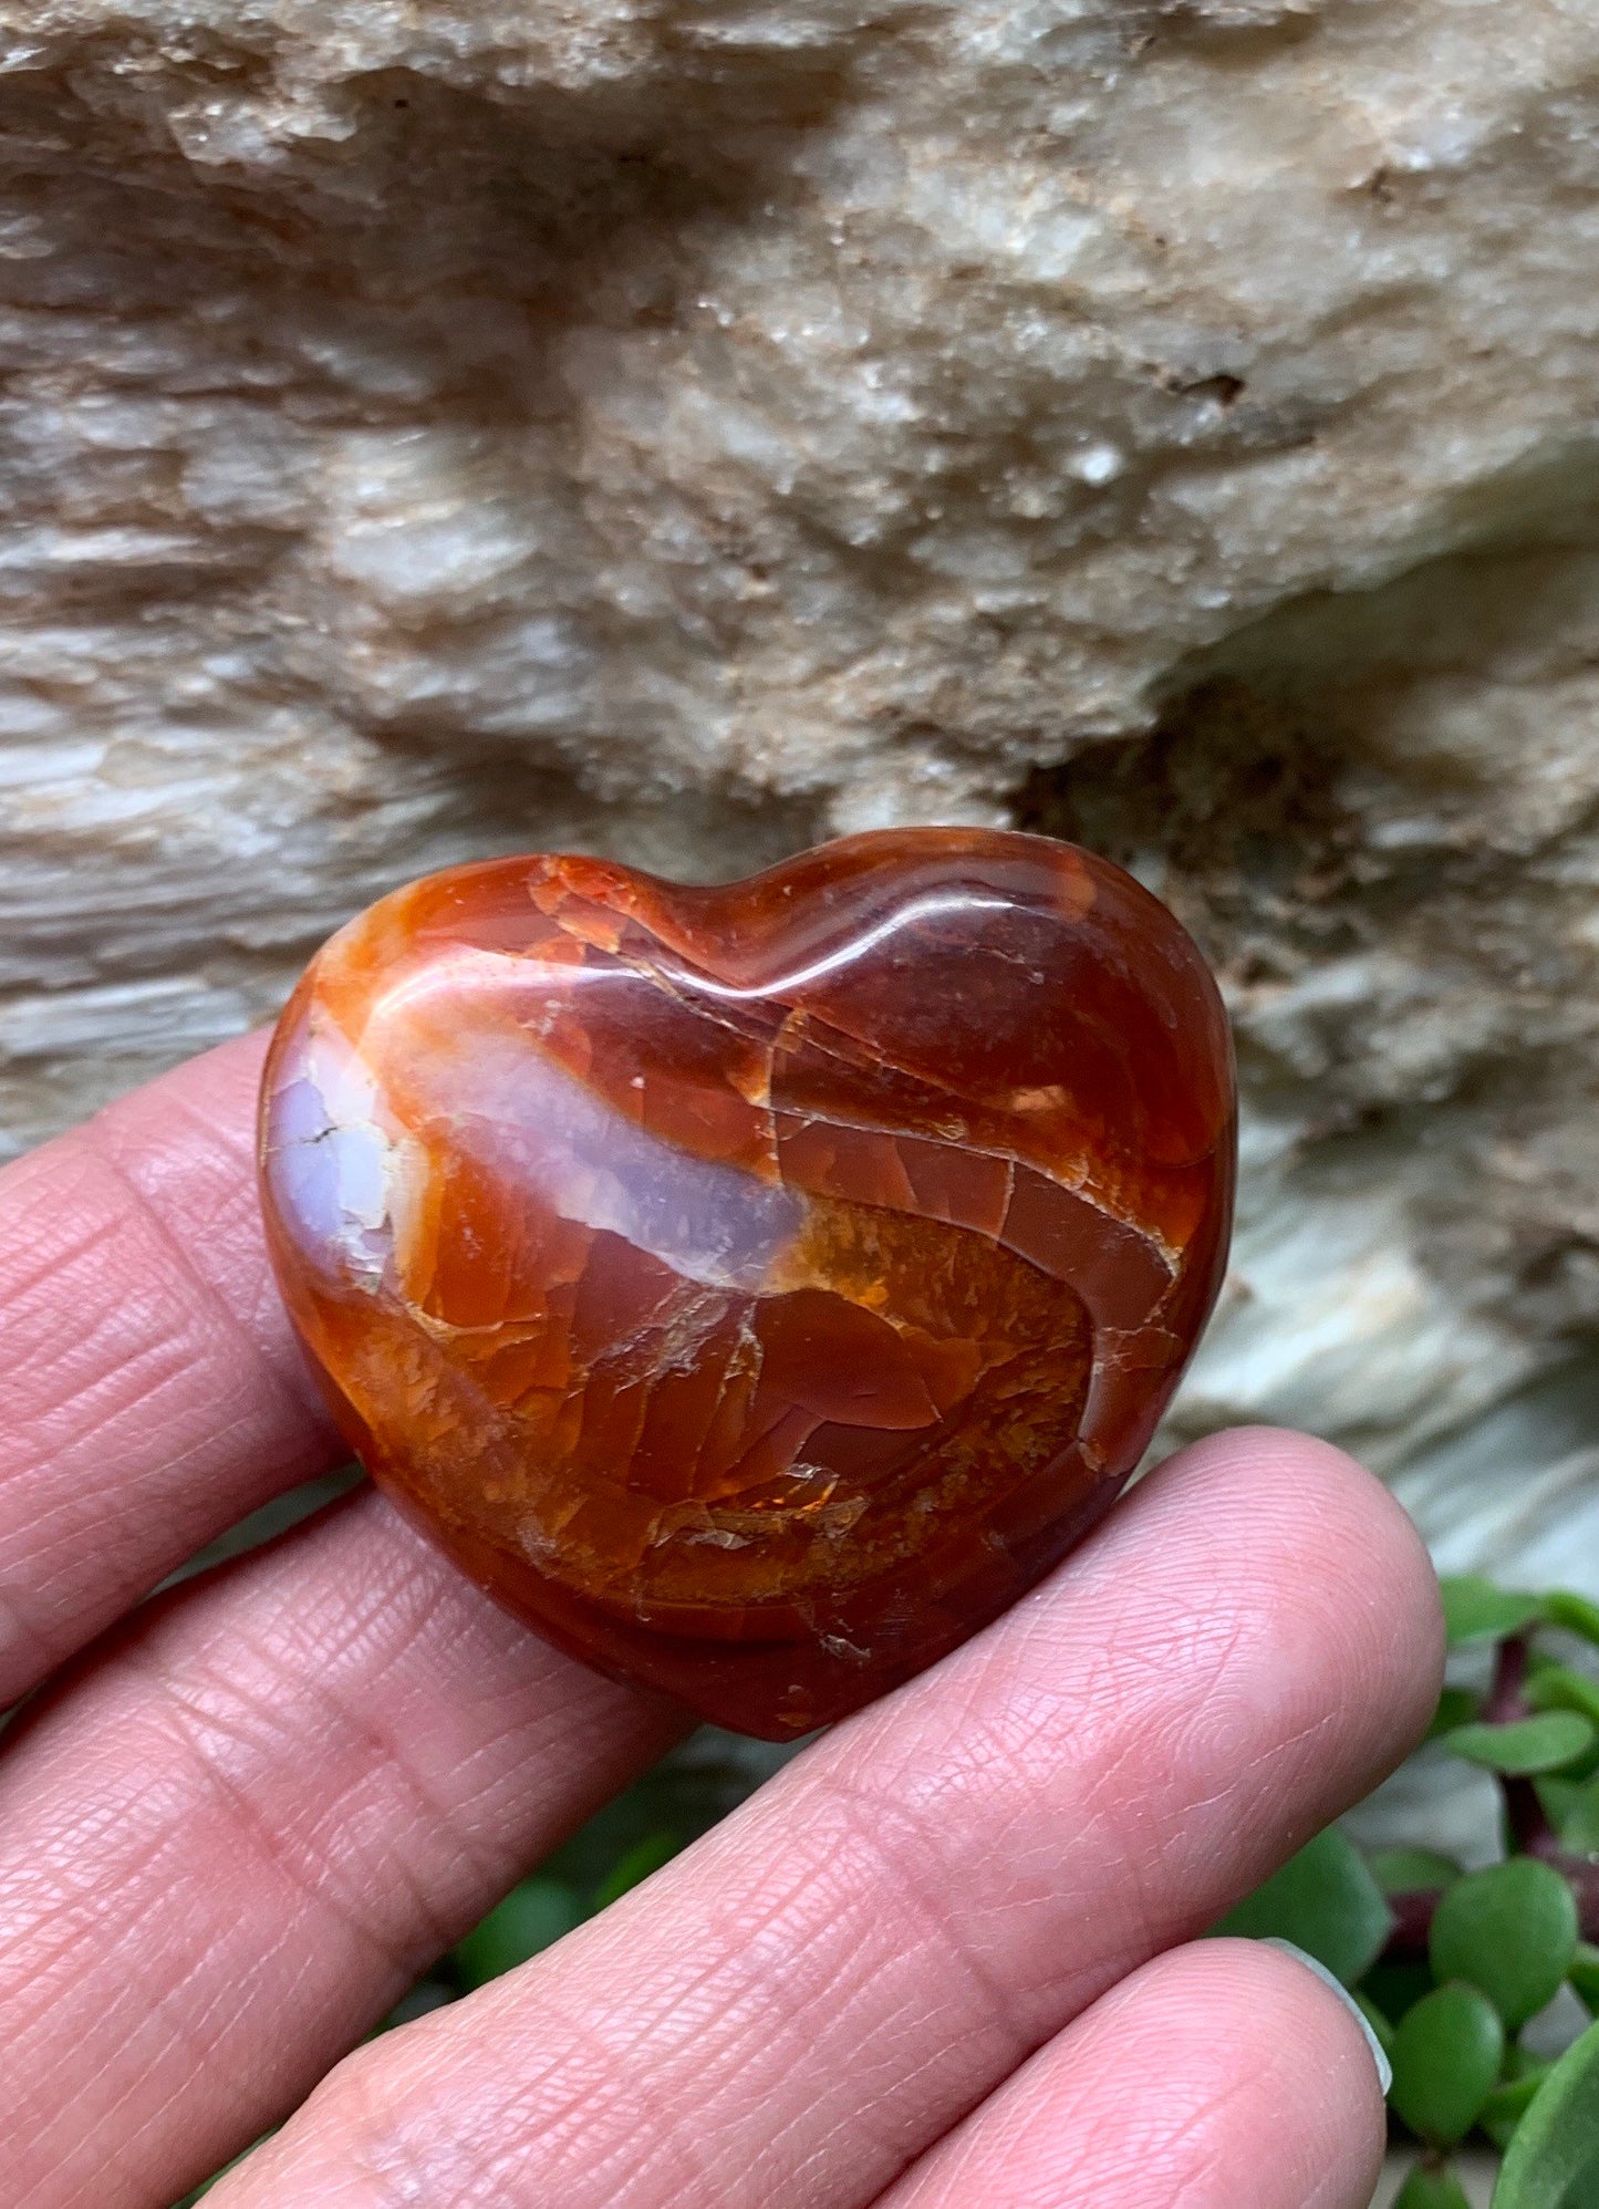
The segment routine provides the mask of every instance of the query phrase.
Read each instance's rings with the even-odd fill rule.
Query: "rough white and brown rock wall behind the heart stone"
[[[1599,1590],[1592,0],[0,4],[0,1111],[428,866],[1023,820],[1239,1023],[1179,1427]]]

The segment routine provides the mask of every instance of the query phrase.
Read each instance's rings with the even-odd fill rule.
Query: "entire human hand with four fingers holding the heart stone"
[[[4,2209],[1365,2209],[1347,2008],[1193,1944],[1418,1738],[1427,1557],[1217,1436],[599,1920],[322,2072],[680,1732],[336,1465],[227,1045],[0,1175]],[[139,1604],[139,1608],[130,1608]],[[320,2085],[316,2081],[322,2079]]]

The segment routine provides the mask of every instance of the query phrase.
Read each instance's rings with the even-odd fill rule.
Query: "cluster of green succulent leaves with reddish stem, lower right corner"
[[[1599,1942],[1581,1940],[1584,1909],[1599,1917],[1599,1679],[1570,1641],[1537,1639],[1599,1648],[1599,1606],[1475,1577],[1447,1582],[1444,1604],[1451,1646],[1513,1641],[1489,1703],[1504,1719],[1451,1683],[1429,1736],[1500,1780],[1511,1856],[1464,1873],[1438,1849],[1378,1849],[1360,1878],[1347,1836],[1323,1833],[1224,1928],[1292,1940],[1352,1988],[1427,2149],[1394,2209],[1462,2209],[1447,2152],[1471,2132],[1506,2158],[1495,2209],[1599,2209],[1599,2023],[1555,2065],[1517,2043],[1561,1984],[1599,2017]]]

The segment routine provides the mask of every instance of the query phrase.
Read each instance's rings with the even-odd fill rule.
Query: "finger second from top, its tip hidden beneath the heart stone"
[[[7,2209],[166,2209],[680,1732],[371,1491],[148,1606],[0,1756]]]

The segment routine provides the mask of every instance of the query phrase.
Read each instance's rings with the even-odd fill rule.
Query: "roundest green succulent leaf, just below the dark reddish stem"
[[[1555,1999],[1577,1955],[1577,1898],[1550,1864],[1511,1856],[1449,1889],[1427,1955],[1436,1979],[1475,1986],[1519,2032]]]

